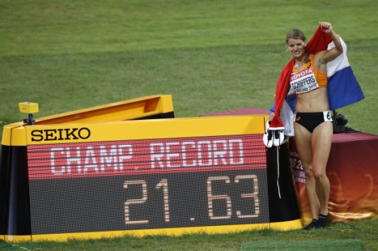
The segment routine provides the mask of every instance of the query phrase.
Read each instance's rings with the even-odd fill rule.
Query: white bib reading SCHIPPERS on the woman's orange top
[[[296,94],[307,93],[319,88],[319,84],[314,75],[314,68],[301,70],[298,73],[291,73],[290,86]]]

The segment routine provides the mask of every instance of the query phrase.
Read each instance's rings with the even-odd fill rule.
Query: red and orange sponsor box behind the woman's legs
[[[326,173],[330,181],[331,222],[378,218],[378,135],[364,132],[333,135]],[[305,222],[312,220],[305,172],[290,140],[290,163]]]

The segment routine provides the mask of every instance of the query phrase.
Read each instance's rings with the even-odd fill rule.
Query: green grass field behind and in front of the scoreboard
[[[268,109],[285,36],[310,39],[329,21],[348,45],[365,100],[340,109],[355,130],[378,134],[378,2],[256,0],[1,0],[0,131],[21,121],[18,102],[47,116],[153,94],[172,94],[176,117]],[[1,132],[0,132],[1,136]],[[378,250],[377,220],[321,231],[249,231],[169,238],[21,243],[29,250],[240,250],[250,241],[361,239]],[[0,249],[21,249],[0,242]]]

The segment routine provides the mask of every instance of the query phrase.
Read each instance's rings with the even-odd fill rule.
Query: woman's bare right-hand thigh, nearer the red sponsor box
[[[313,165],[314,168],[318,169],[318,172],[325,172],[332,144],[332,135],[333,125],[330,121],[321,123],[312,132]]]

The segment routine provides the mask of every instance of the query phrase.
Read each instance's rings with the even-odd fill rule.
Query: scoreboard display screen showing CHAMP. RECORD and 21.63
[[[101,155],[106,143],[129,146],[126,155],[108,148],[127,157],[122,170],[108,162],[106,172],[107,165],[99,162],[119,160],[117,154]],[[261,135],[33,145],[28,146],[28,166],[33,234],[269,222]],[[188,208],[194,215],[183,213]]]

